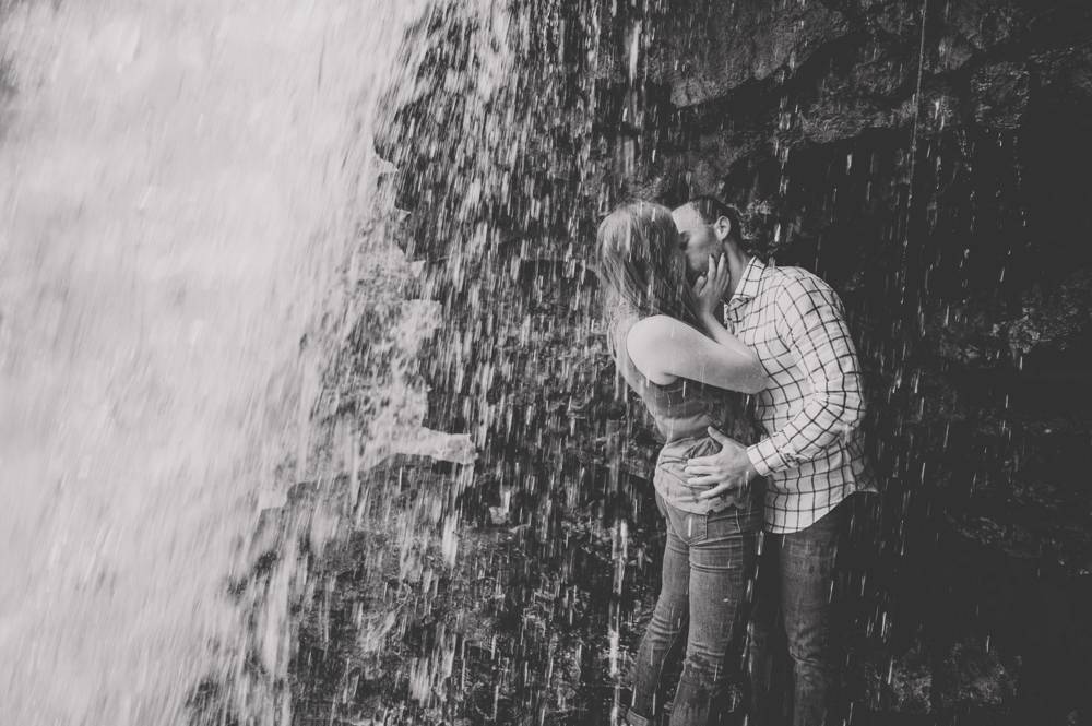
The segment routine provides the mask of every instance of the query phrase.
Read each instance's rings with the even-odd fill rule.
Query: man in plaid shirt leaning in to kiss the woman
[[[824,723],[835,677],[831,593],[842,502],[866,481],[858,431],[864,401],[857,356],[842,304],[798,267],[767,266],[741,246],[739,215],[702,197],[673,212],[695,274],[724,254],[732,274],[725,323],[759,356],[772,381],[756,395],[767,438],[744,447],[719,431],[722,450],[690,460],[691,485],[716,497],[765,477],[762,552],[753,616],[753,726],[772,723],[769,639],[784,627],[793,664],[794,726]],[[780,616],[780,617],[779,617]]]

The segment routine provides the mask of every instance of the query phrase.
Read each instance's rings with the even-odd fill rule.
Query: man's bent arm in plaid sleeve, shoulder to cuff
[[[778,333],[797,358],[811,393],[780,431],[747,448],[761,476],[796,468],[860,424],[860,366],[841,301],[827,283],[805,275],[778,295]]]

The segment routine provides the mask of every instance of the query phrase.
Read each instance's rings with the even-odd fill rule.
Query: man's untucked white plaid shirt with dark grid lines
[[[747,449],[767,478],[765,528],[799,532],[870,488],[857,429],[865,412],[860,371],[842,302],[810,272],[752,258],[725,322],[758,354],[771,381],[755,396],[768,438]]]

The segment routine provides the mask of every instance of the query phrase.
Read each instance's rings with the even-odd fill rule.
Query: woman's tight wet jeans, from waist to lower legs
[[[660,707],[664,660],[685,633],[686,659],[670,724],[707,726],[714,714],[741,705],[740,609],[753,572],[761,509],[729,507],[693,514],[672,507],[660,495],[656,504],[667,520],[663,583],[633,666],[627,722],[652,723]]]

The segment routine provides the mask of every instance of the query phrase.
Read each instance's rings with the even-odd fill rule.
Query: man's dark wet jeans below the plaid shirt
[[[838,540],[848,511],[843,501],[806,529],[762,537],[749,658],[753,726],[781,723],[783,700],[771,693],[770,680],[776,659],[773,644],[781,642],[782,632],[793,666],[793,726],[832,723],[824,721],[836,676],[831,596]]]

